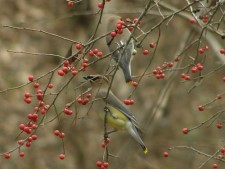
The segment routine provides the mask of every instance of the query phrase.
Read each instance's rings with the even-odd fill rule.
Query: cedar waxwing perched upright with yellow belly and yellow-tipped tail
[[[83,78],[91,83],[91,91],[94,98],[104,101],[104,103],[100,103],[102,105],[102,111],[99,112],[100,117],[102,119],[106,118],[106,124],[110,125],[115,130],[128,131],[140,144],[146,154],[148,149],[138,133],[141,129],[137,120],[111,90],[108,93],[109,80],[102,75],[89,75]]]

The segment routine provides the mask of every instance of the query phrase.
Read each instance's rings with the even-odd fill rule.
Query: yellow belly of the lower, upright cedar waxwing
[[[109,126],[116,130],[126,130],[127,123],[129,122],[127,117],[110,105],[107,105],[107,108],[109,109],[109,112],[106,113],[104,110],[101,111],[99,113],[100,117],[104,120],[105,115],[107,114],[106,123]]]

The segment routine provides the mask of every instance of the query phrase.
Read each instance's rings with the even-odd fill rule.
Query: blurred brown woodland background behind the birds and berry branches
[[[36,30],[51,32],[65,38],[76,40],[78,42],[87,42],[93,34],[96,23],[99,19],[97,4],[100,1],[87,0],[68,7],[64,0],[0,0],[0,90],[19,86],[26,83],[27,77],[33,74],[39,77],[49,72],[62,60],[54,56],[32,55],[24,53],[10,52],[32,52],[48,53],[65,56],[71,42],[49,36],[38,31],[17,30],[4,27],[6,25],[15,27],[28,27]],[[153,5],[149,14],[141,21],[141,28],[144,31],[150,30],[156,24],[163,20],[162,13],[171,14],[174,9],[181,9],[187,4],[183,1],[165,0],[171,10],[164,7],[157,8]],[[117,14],[123,18],[135,18],[140,15],[146,4],[144,0],[111,0],[105,7],[105,14]],[[159,5],[160,6],[160,5]],[[168,7],[168,6],[167,6]],[[185,10],[184,13],[188,13]],[[218,14],[219,15],[219,14]],[[224,20],[222,20],[224,22]],[[196,24],[197,25],[197,24]],[[104,20],[100,24],[97,35],[102,35],[104,30]],[[159,37],[160,33],[160,37]],[[143,48],[150,50],[150,54],[144,56],[142,49],[137,49],[132,62],[133,75],[137,79],[146,70],[149,76],[145,76],[137,90],[132,93],[132,99],[135,100],[133,106],[128,107],[135,115],[143,128],[144,142],[149,148],[149,153],[144,155],[139,145],[124,132],[117,132],[110,136],[110,152],[118,158],[110,157],[109,167],[117,169],[138,168],[138,169],[190,169],[198,168],[209,157],[196,153],[187,148],[176,148],[169,151],[168,148],[174,146],[188,146],[212,155],[224,146],[224,129],[217,129],[217,123],[224,122],[224,114],[221,113],[218,118],[206,123],[196,130],[184,135],[182,128],[192,128],[198,126],[214,113],[224,109],[224,100],[218,100],[203,112],[199,112],[198,105],[205,104],[216,98],[217,94],[224,92],[224,69],[215,71],[224,64],[223,56],[219,49],[224,47],[224,41],[215,34],[203,34],[200,37],[201,29],[189,23],[184,15],[175,15],[170,20],[163,22],[159,28],[154,29],[143,42]],[[141,32],[137,31],[136,36]],[[158,38],[159,37],[159,38]],[[188,47],[196,39],[201,39],[200,43]],[[157,50],[153,55],[153,49],[149,48],[149,43],[156,42],[159,39]],[[201,81],[201,84],[193,90],[196,81],[184,82],[180,78],[181,73],[187,73],[185,66],[191,63],[191,58],[196,56],[198,45],[209,46],[204,56],[199,56],[198,60],[204,63],[204,72],[213,72],[207,75]],[[104,54],[108,53],[105,40],[97,41],[94,47],[101,50]],[[185,51],[185,52],[183,52]],[[182,53],[183,52],[183,53]],[[174,62],[174,58],[180,56],[181,62]],[[102,73],[104,63],[108,60],[98,62],[90,67],[86,72],[81,72],[74,79],[65,92],[60,95],[56,101],[56,108],[60,112],[65,104],[70,102],[76,93],[74,89],[79,86],[82,76],[87,74]],[[157,80],[151,75],[151,71],[165,62],[173,62],[177,69],[166,71],[166,78]],[[127,87],[123,83],[123,76],[120,70],[116,74],[113,82],[113,90],[121,100],[126,99],[133,88]],[[191,74],[191,73],[190,73]],[[192,76],[192,74],[191,74]],[[45,82],[49,76],[40,81],[44,88]],[[54,76],[54,90],[57,90],[64,79]],[[53,91],[54,91],[53,90]],[[16,147],[17,136],[20,133],[18,125],[25,123],[28,113],[33,111],[34,105],[27,105],[23,101],[25,92],[33,92],[32,85],[25,86],[16,90],[10,90],[0,93],[0,152],[4,153]],[[51,98],[49,98],[49,101]],[[25,157],[18,156],[18,150],[11,154],[9,160],[0,158],[2,169],[74,169],[74,168],[97,168],[95,163],[102,160],[104,149],[101,148],[103,140],[103,122],[96,115],[96,112],[90,110],[88,116],[85,114],[88,107],[78,106],[76,108],[81,119],[62,117],[60,122],[54,120],[37,131],[38,139],[30,148],[23,148]],[[52,116],[55,110],[51,109]],[[60,160],[57,156],[63,153],[62,142],[54,136],[53,131],[61,129],[66,137],[65,160]],[[20,137],[24,138],[23,135]],[[163,157],[163,152],[168,151],[169,157]],[[212,168],[214,163],[218,163],[220,168],[225,164],[223,162],[211,159],[203,168]]]

